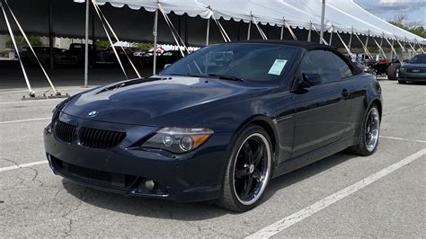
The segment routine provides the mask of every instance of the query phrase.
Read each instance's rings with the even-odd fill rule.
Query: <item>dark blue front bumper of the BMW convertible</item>
[[[67,180],[98,190],[123,195],[202,201],[217,199],[227,162],[231,134],[215,133],[200,148],[183,155],[144,150],[136,142],[150,137],[157,128],[84,120],[61,113],[60,121],[76,126],[75,139],[58,138],[50,124],[44,144],[53,172]],[[79,142],[81,128],[120,130],[127,133],[118,146],[99,149]],[[138,143],[137,143],[138,144]],[[155,181],[155,189],[143,188]]]

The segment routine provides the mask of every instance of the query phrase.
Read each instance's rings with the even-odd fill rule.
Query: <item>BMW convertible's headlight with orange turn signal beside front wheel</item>
[[[142,146],[182,154],[201,146],[212,134],[209,128],[161,128]]]

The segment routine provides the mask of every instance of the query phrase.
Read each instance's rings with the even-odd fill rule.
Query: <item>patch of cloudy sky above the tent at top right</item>
[[[426,27],[426,0],[354,0],[368,12],[386,20],[397,14],[407,14],[408,22],[419,22]]]

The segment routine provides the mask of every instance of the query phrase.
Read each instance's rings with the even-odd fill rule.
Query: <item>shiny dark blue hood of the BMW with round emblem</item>
[[[86,120],[162,127],[231,98],[262,92],[247,85],[174,75],[135,79],[77,94],[62,112]]]

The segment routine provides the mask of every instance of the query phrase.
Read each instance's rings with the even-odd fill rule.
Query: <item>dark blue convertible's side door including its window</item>
[[[340,140],[349,128],[351,97],[345,88],[336,55],[328,50],[306,53],[299,79],[304,73],[318,74],[322,82],[310,87],[299,86],[293,92],[296,119],[292,157]]]

